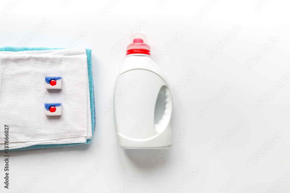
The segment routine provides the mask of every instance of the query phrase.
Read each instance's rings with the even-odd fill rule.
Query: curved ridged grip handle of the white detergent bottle
[[[162,115],[159,122],[157,124],[154,124],[154,126],[157,133],[162,133],[167,128],[171,120],[173,102],[172,102],[172,93],[166,85],[162,86],[159,92],[164,93],[166,104],[164,114]]]

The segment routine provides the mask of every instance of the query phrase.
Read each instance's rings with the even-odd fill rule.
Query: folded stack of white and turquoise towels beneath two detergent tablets
[[[45,77],[52,76],[62,77],[62,90],[45,88]],[[45,103],[61,103],[62,115],[46,116]],[[90,143],[95,127],[91,50],[0,48],[3,137],[4,125],[10,150]]]

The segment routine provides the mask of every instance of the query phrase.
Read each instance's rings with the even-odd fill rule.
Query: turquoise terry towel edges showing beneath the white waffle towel
[[[1,47],[0,52],[21,52],[21,51],[33,51],[33,50],[50,50],[50,49],[64,49],[64,48],[46,48],[46,47]],[[92,134],[94,134],[96,126],[96,111],[95,111],[95,93],[94,93],[94,83],[93,83],[93,71],[92,71],[92,50],[86,49],[87,60],[88,60],[88,77],[89,77],[89,89],[90,89],[90,107],[91,107],[91,117],[92,117]],[[93,139],[93,137],[92,137]],[[35,148],[49,148],[58,146],[72,146],[79,144],[89,144],[92,139],[87,139],[86,143],[75,143],[75,144],[50,144],[50,145],[33,145],[25,148],[10,149],[10,150],[23,150],[23,149],[35,149]],[[2,150],[3,151],[3,150]]]

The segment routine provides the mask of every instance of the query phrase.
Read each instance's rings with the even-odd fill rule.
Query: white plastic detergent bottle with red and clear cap
[[[172,146],[171,90],[161,69],[150,58],[147,36],[133,34],[114,91],[117,142],[124,149],[163,149]],[[154,124],[157,97],[162,91],[166,105]]]

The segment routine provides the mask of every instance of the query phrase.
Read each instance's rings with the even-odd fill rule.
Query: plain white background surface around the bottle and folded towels
[[[1,152],[0,192],[118,193],[125,192],[124,186],[130,186],[132,177],[138,180],[126,192],[210,193],[223,192],[223,187],[229,193],[289,192],[290,179],[284,176],[290,171],[290,81],[279,89],[277,86],[290,73],[289,1],[264,0],[265,5],[257,10],[258,0],[171,0],[161,8],[158,3],[162,0],[118,0],[101,17],[99,13],[111,2],[21,0],[10,10],[7,5],[11,1],[1,1],[0,47],[18,47],[32,34],[28,47],[92,49],[97,125],[88,145],[73,146],[67,151],[64,147],[10,151],[9,190],[3,188]],[[209,3],[212,7],[203,10]],[[204,15],[197,19],[202,10]],[[34,28],[42,20],[48,23],[36,34]],[[171,89],[179,89],[173,95],[172,131],[173,137],[179,131],[184,134],[165,153],[116,151],[113,109],[102,112],[113,98],[128,42],[115,55],[112,50],[129,37],[139,22],[145,25],[136,30],[148,36],[151,57],[166,50],[161,58],[156,58],[157,63]],[[235,25],[240,29],[227,38]],[[73,45],[71,41],[79,32],[85,35]],[[168,49],[168,42],[176,34],[182,37]],[[273,37],[278,40],[264,52],[263,46]],[[208,53],[223,40],[225,44],[210,58]],[[246,68],[259,52],[262,56],[258,61]],[[182,86],[180,81],[187,80],[189,71],[195,75]],[[230,89],[216,97],[225,84]],[[275,93],[266,97],[271,90]],[[267,101],[259,106],[265,97]],[[206,105],[212,99],[216,102],[209,108]],[[198,111],[203,107],[208,110],[200,116]],[[238,121],[244,124],[231,136],[228,131]],[[277,133],[280,137],[265,146]],[[228,140],[213,153],[211,149],[224,137]],[[256,155],[262,148],[262,155]],[[153,163],[151,158],[159,159]],[[251,160],[255,162],[250,163]],[[101,168],[92,172],[95,165]],[[189,174],[194,167],[196,173]],[[90,172],[94,175],[88,179]],[[36,174],[41,177],[31,187],[28,183],[34,183]],[[185,181],[187,174],[191,177]],[[286,181],[281,183],[283,177]],[[76,188],[81,181],[85,184]],[[229,188],[228,181],[233,181]],[[175,191],[178,183],[182,186]],[[278,190],[274,190],[275,186]]]

